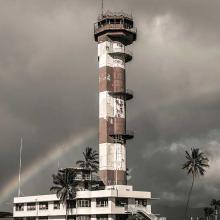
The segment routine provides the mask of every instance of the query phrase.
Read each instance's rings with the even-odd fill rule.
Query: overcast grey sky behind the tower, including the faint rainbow
[[[220,1],[108,0],[138,28],[127,65],[127,147],[131,184],[160,204],[183,205],[190,177],[184,151],[210,158],[196,181],[194,207],[220,193]],[[93,23],[98,0],[0,1],[0,208],[17,193],[48,193],[58,164],[98,149],[98,66]],[[218,198],[219,199],[219,198]]]

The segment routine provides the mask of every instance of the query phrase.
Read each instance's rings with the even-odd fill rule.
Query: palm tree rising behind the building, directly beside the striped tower
[[[83,152],[84,160],[78,160],[77,165],[84,169],[90,170],[90,178],[92,180],[92,173],[98,172],[99,167],[99,154],[96,150],[93,150],[91,147],[87,147],[85,152]]]

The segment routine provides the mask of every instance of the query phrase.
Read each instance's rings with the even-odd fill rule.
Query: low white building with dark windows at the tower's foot
[[[151,215],[151,193],[134,191],[132,186],[107,186],[105,190],[78,191],[68,208],[68,219],[123,220],[131,212]],[[66,207],[55,194],[14,198],[15,219],[65,219]],[[146,218],[147,219],[147,218]]]

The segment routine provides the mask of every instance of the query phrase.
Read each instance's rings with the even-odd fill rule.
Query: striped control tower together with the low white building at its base
[[[132,16],[124,13],[106,12],[94,27],[99,62],[99,176],[105,186],[79,188],[69,206],[61,205],[56,194],[15,197],[15,220],[129,220],[131,215],[164,220],[152,214],[151,192],[127,185],[126,143],[133,133],[126,128],[126,102],[133,94],[126,89],[125,64],[132,60],[126,46],[136,35]]]

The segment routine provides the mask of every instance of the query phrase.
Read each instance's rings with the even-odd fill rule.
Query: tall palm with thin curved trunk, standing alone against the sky
[[[185,209],[185,220],[187,219],[187,213],[189,209],[190,197],[194,186],[195,178],[203,176],[205,174],[205,168],[209,167],[209,160],[206,155],[199,150],[199,148],[191,148],[191,152],[185,151],[185,157],[187,161],[183,164],[182,169],[187,171],[187,174],[192,175],[192,184],[189,189],[186,209]]]

